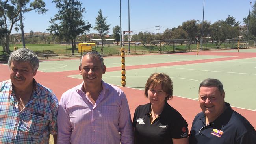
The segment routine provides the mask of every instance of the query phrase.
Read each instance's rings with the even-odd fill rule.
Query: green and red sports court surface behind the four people
[[[148,103],[143,90],[154,72],[168,74],[174,84],[173,99],[168,103],[189,123],[201,111],[198,87],[206,78],[219,79],[226,92],[225,101],[256,128],[256,48],[200,51],[178,54],[148,54],[125,57],[126,87],[121,86],[121,57],[104,57],[106,74],[102,79],[124,90],[133,117],[138,105]],[[35,79],[58,97],[82,83],[79,59],[41,61]],[[0,64],[0,81],[9,79],[7,64]]]

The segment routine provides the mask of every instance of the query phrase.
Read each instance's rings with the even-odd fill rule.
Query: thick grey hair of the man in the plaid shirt
[[[30,62],[30,66],[33,72],[35,72],[35,70],[37,70],[39,67],[39,59],[37,55],[35,54],[35,52],[27,48],[20,48],[11,52],[8,60],[9,68],[11,68],[12,61],[16,61],[17,63]]]

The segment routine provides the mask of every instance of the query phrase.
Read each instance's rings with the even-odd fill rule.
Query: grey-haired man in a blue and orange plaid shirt
[[[0,143],[47,144],[57,139],[58,100],[37,83],[39,59],[29,49],[10,54],[10,79],[0,83]]]

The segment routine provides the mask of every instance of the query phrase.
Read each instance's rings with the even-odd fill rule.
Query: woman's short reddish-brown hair
[[[147,83],[145,85],[145,91],[144,91],[144,94],[147,98],[148,98],[149,88],[154,88],[158,84],[161,84],[163,91],[167,93],[167,97],[165,98],[165,101],[173,98],[173,82],[167,74],[163,74],[163,73],[153,73],[148,78]]]

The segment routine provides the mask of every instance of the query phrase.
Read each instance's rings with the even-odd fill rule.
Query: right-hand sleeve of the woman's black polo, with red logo
[[[173,122],[173,128],[171,128],[171,137],[174,139],[187,138],[188,137],[188,124],[186,120],[177,114]]]

